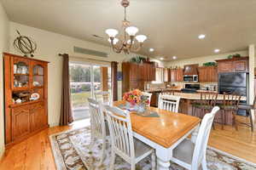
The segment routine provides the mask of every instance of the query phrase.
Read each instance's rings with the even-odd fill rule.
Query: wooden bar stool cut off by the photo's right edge
[[[243,122],[241,123],[247,125],[248,127],[251,127],[251,130],[253,132],[255,129],[255,112],[252,112],[252,110],[256,111],[256,96],[253,99],[253,105],[238,105],[238,109],[247,110],[249,112],[250,124]]]

